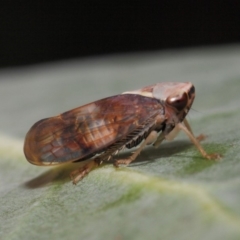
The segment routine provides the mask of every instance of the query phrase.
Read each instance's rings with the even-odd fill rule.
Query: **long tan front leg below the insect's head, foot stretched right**
[[[194,137],[194,135],[191,131],[191,128],[188,128],[187,126],[184,126],[182,123],[178,123],[176,126],[179,129],[183,130],[188,135],[188,137],[190,138],[192,143],[196,146],[196,148],[198,149],[198,151],[202,154],[202,156],[204,158],[207,158],[207,159],[211,160],[211,159],[219,159],[221,157],[221,155],[217,154],[217,153],[212,153],[212,154],[206,153],[206,151],[203,149],[203,147],[199,143],[199,140],[196,137]]]

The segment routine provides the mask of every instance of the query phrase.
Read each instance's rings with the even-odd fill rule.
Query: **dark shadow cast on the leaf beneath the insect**
[[[175,140],[174,142],[170,143],[164,143],[159,148],[154,148],[152,146],[146,147],[141,154],[137,157],[137,159],[134,161],[134,165],[142,165],[142,164],[148,164],[150,161],[155,161],[158,158],[164,157],[171,157],[174,154],[177,154],[179,152],[183,152],[184,150],[192,147],[192,143],[185,140]],[[134,149],[123,151],[119,153],[117,156],[115,156],[115,159],[121,159],[121,158],[127,158],[131,155],[131,152],[134,151]],[[33,178],[23,184],[26,188],[40,188],[44,187],[45,185],[48,185],[53,182],[68,182],[70,181],[70,173],[73,170],[76,170],[78,168],[81,168],[86,164],[87,161],[83,162],[76,162],[76,163],[66,163],[57,167],[52,167],[47,172],[42,173],[41,175],[37,176],[36,178]],[[112,164],[114,160],[105,162],[105,164]],[[131,165],[130,165],[131,166]],[[91,174],[91,173],[90,173]]]

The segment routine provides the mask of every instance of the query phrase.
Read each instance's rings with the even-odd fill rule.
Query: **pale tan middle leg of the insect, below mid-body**
[[[140,145],[140,147],[134,152],[129,158],[126,159],[119,159],[116,160],[114,163],[114,166],[118,167],[121,164],[128,165],[132,161],[136,159],[136,157],[139,155],[139,153],[142,151],[142,149],[148,145],[156,141],[158,133],[156,131],[151,131],[150,134],[147,136],[147,138],[144,140],[144,142]]]

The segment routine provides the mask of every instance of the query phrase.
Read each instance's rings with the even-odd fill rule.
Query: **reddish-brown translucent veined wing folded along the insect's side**
[[[24,153],[35,165],[86,159],[104,151],[162,111],[154,98],[116,95],[35,123],[26,135]]]

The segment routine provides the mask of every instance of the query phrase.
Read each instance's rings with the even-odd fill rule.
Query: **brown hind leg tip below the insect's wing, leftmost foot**
[[[99,159],[95,158],[88,163],[86,163],[83,167],[74,170],[71,172],[70,177],[72,179],[73,184],[77,184],[81,179],[83,179],[90,171],[94,168],[98,167],[101,164]]]

